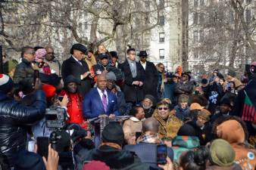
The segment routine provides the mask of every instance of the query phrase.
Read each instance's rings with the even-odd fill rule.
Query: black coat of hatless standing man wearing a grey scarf
[[[125,95],[126,102],[135,103],[143,100],[145,97],[145,94],[143,91],[143,87],[145,85],[145,71],[142,65],[136,62],[137,74],[135,78],[133,78],[133,75],[127,60],[121,64],[120,68],[124,74],[123,93]],[[141,87],[133,85],[134,81],[143,82],[143,85]]]

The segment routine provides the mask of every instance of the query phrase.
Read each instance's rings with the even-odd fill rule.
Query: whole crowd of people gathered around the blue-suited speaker
[[[198,80],[180,66],[168,73],[146,51],[126,52],[120,63],[105,45],[74,44],[60,62],[50,46],[27,46],[20,61],[6,58],[1,169],[256,169],[256,61],[241,78],[229,69]],[[65,128],[48,128],[51,108],[67,113]],[[119,119],[98,131],[96,118]],[[58,141],[49,142],[47,156],[36,143],[44,137]]]

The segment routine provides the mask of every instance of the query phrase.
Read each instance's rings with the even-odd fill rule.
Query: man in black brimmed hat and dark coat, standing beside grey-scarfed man
[[[155,67],[154,63],[147,61],[147,51],[139,51],[139,63],[143,66],[145,70],[145,85],[144,92],[145,94],[151,94],[155,98],[158,98],[158,70]]]

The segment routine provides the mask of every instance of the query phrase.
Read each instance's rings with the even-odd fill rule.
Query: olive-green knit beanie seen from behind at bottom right
[[[230,166],[233,165],[236,153],[233,147],[223,139],[214,140],[210,147],[210,161],[214,165]]]

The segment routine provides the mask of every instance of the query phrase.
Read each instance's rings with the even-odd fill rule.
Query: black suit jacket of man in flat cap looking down
[[[83,66],[80,65],[72,56],[67,60],[64,60],[61,66],[61,75],[65,79],[67,76],[73,75],[77,80],[80,81],[78,85],[79,93],[84,96],[92,88],[92,79],[88,76],[86,79],[81,80],[81,75],[89,71],[89,67],[84,60],[80,61]]]

